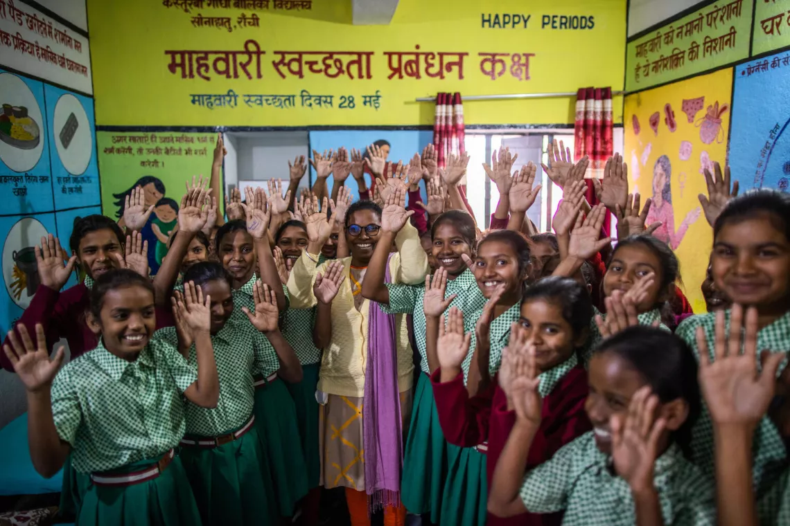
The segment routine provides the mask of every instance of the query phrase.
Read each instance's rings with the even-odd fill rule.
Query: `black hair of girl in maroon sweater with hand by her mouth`
[[[533,283],[521,297],[521,304],[532,300],[548,300],[559,306],[564,319],[580,336],[589,329],[592,320],[592,301],[581,283],[571,278],[553,276]]]

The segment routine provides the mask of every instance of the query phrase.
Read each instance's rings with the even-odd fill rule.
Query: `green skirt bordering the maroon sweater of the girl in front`
[[[447,445],[450,469],[442,494],[441,526],[486,524],[486,456],[473,447]]]

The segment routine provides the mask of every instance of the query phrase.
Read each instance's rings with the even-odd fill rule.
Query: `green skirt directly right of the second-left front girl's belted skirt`
[[[293,517],[296,502],[307,494],[307,467],[296,408],[283,380],[275,379],[255,390],[254,412],[280,516]]]

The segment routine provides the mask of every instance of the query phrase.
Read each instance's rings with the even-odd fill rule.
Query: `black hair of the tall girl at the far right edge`
[[[727,203],[713,223],[713,239],[724,225],[766,216],[771,226],[790,241],[790,196],[769,188],[751,190]]]

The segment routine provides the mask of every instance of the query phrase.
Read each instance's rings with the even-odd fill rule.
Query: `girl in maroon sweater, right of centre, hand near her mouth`
[[[546,278],[527,289],[521,301],[521,317],[513,324],[510,342],[503,349],[502,367],[497,372],[498,385],[471,398],[460,381],[453,381],[468,353],[468,348],[457,345],[463,334],[451,332],[463,330],[463,323],[453,323],[457,315],[457,312],[450,312],[448,328],[438,343],[441,379],[449,380],[434,382],[438,417],[452,444],[487,443],[487,483],[491,483],[497,459],[515,421],[513,357],[527,345],[535,346],[538,353],[536,364],[540,394],[544,397],[544,420],[529,450],[526,468],[547,461],[564,444],[589,431],[591,426],[584,411],[587,374],[576,354],[586,341],[592,317],[589,295],[582,285],[568,278]],[[468,494],[465,497],[469,499]],[[487,495],[481,497],[486,499]],[[489,513],[486,520],[490,526],[561,522],[562,514],[550,517],[523,514],[502,519]]]

